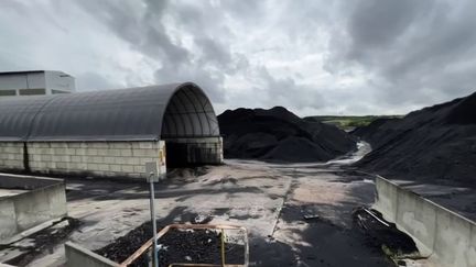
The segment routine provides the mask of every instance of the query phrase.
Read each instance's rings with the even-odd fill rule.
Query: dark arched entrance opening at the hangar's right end
[[[218,121],[210,101],[194,85],[174,92],[162,120],[167,167],[185,167],[223,162]]]

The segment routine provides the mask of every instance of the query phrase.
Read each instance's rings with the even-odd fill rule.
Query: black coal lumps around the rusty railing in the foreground
[[[96,251],[96,253],[116,263],[122,263],[151,237],[152,225],[148,222],[119,237],[113,243]],[[171,264],[221,264],[221,234],[213,230],[173,229],[159,238],[158,243],[161,246],[159,253],[160,266]],[[226,243],[225,258],[226,264],[244,264],[245,246]],[[150,258],[145,253],[129,266],[149,266],[149,263]]]

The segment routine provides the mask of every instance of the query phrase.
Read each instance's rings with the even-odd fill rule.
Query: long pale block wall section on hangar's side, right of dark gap
[[[43,174],[99,177],[145,177],[145,163],[165,174],[164,142],[36,142],[28,143],[30,169]]]

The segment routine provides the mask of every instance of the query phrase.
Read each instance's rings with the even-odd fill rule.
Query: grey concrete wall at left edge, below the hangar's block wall
[[[50,220],[67,215],[65,185],[61,179],[0,175],[0,188],[28,190],[0,198],[0,241]]]

